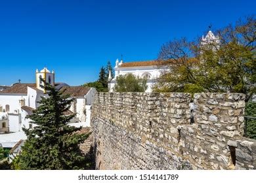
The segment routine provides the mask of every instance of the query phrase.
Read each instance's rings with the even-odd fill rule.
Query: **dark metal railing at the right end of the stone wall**
[[[256,139],[256,117],[244,116],[244,119],[244,137]]]

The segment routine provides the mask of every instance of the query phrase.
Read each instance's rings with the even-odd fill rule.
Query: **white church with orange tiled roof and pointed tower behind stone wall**
[[[202,37],[201,46],[211,46],[211,43],[219,44],[219,37],[215,36],[212,31],[208,31],[205,37]],[[159,61],[133,61],[133,62],[123,62],[116,60],[116,65],[114,67],[115,76],[112,79],[111,73],[108,76],[108,90],[109,92],[114,92],[114,86],[116,84],[116,78],[119,75],[127,75],[131,73],[139,78],[147,79],[147,86],[145,92],[152,92],[152,87],[157,82],[157,78],[161,75],[165,69],[159,67]]]

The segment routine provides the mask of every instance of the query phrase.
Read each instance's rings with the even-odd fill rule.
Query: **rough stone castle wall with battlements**
[[[256,141],[242,137],[244,99],[98,93],[91,114],[96,169],[256,169]]]

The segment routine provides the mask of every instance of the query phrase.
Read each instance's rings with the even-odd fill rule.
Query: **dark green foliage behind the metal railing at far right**
[[[245,106],[245,116],[256,117],[256,103],[249,101]],[[247,118],[247,137],[256,139],[256,120]]]

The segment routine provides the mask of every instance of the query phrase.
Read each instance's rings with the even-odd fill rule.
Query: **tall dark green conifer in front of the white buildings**
[[[28,116],[36,126],[24,129],[28,139],[18,156],[18,169],[85,169],[85,158],[79,144],[89,134],[75,133],[81,128],[68,122],[75,114],[64,115],[73,99],[46,84],[48,97],[42,97],[40,106]]]

